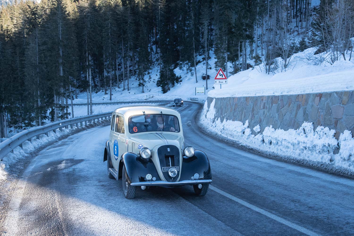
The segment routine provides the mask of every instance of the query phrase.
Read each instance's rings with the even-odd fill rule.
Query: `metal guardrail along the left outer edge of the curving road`
[[[169,100],[161,100],[161,101],[149,101],[146,103],[159,103],[159,105],[165,105],[170,103],[171,101]],[[130,102],[131,103],[131,102]],[[135,103],[141,103],[141,102],[135,102]],[[122,103],[114,103],[114,104],[122,104]],[[124,103],[123,103],[124,104]],[[126,103],[127,104],[127,103]],[[87,104],[85,104],[87,105]],[[7,138],[3,140],[3,142],[0,143],[0,161],[13,149],[15,149],[17,146],[22,146],[22,143],[31,140],[33,137],[39,138],[41,134],[46,134],[48,136],[48,132],[54,131],[56,132],[57,129],[62,130],[63,127],[68,128],[73,128],[74,125],[76,127],[79,127],[79,123],[81,126],[82,122],[85,122],[85,125],[87,125],[87,122],[91,123],[92,122],[98,122],[99,119],[104,120],[104,119],[109,119],[110,116],[112,116],[112,111],[106,112],[106,113],[100,113],[100,114],[95,114],[95,115],[88,115],[88,116],[80,116],[80,117],[75,117],[67,120],[61,120],[61,121],[56,121],[53,123],[49,123],[47,125],[42,125],[42,126],[37,126],[34,128],[30,128],[27,130],[24,130],[22,132],[19,132],[12,136],[11,138]]]

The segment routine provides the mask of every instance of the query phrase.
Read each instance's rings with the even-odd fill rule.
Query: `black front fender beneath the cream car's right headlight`
[[[211,179],[211,169],[208,157],[203,151],[195,150],[195,154],[189,158],[183,158],[181,168],[181,180],[189,180],[198,173],[199,179]]]

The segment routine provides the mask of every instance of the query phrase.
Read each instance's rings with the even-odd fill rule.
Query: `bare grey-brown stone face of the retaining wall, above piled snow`
[[[226,120],[249,120],[258,124],[261,132],[273,125],[278,129],[297,129],[304,121],[313,122],[314,128],[325,126],[336,129],[336,138],[344,130],[354,135],[354,91],[307,93],[280,96],[207,98],[207,106],[215,99],[215,117]]]

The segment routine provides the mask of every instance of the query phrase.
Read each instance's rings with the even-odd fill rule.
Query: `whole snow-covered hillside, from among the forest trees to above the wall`
[[[155,63],[154,67],[145,75],[147,83],[142,93],[142,87],[138,87],[138,81],[135,76],[130,79],[130,90],[118,89],[113,87],[112,101],[124,100],[157,100],[157,99],[174,99],[181,97],[188,100],[196,97],[201,100],[207,96],[210,97],[229,97],[229,96],[260,96],[260,95],[280,95],[280,94],[299,94],[299,93],[315,93],[330,91],[346,91],[354,90],[354,63],[352,61],[337,61],[333,65],[316,63],[314,56],[315,48],[308,48],[303,52],[296,53],[292,56],[286,71],[280,68],[269,75],[265,73],[264,65],[261,64],[255,68],[241,71],[237,74],[230,75],[233,71],[232,64],[229,63],[228,72],[229,80],[227,85],[219,86],[213,84],[213,78],[217,70],[214,68],[216,61],[211,51],[209,60],[208,75],[211,79],[208,81],[208,95],[195,96],[195,87],[205,87],[205,80],[201,79],[201,75],[205,73],[205,62],[202,56],[198,57],[201,61],[197,66],[197,79],[195,75],[190,74],[185,67],[175,69],[177,76],[182,77],[182,82],[176,84],[171,90],[165,94],[161,92],[161,87],[156,86],[159,78],[159,67]],[[281,59],[277,58],[279,64]],[[251,64],[253,64],[251,62]],[[223,68],[224,69],[224,68]],[[151,79],[149,78],[151,76]],[[120,78],[121,79],[121,78]],[[108,91],[109,93],[109,91]],[[93,102],[109,102],[109,94],[104,92],[92,94]],[[86,93],[80,93],[78,99],[74,103],[86,103]]]

